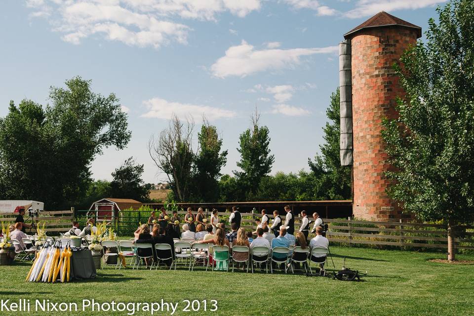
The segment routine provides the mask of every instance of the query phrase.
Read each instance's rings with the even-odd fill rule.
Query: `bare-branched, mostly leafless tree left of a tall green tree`
[[[192,119],[182,122],[174,115],[158,138],[152,135],[148,141],[150,157],[158,169],[166,173],[168,183],[180,201],[186,201],[189,197],[192,181],[194,126]]]

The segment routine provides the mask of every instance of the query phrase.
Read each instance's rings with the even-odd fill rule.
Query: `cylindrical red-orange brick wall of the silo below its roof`
[[[415,42],[415,31],[397,27],[362,30],[352,39],[356,218],[382,221],[404,216],[385,191],[390,181],[384,171],[392,167],[380,131],[384,117],[396,117],[395,97],[403,94],[392,66]]]

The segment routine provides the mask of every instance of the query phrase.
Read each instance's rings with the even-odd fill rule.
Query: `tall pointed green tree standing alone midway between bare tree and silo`
[[[270,155],[270,131],[267,126],[259,126],[259,118],[258,113],[252,116],[252,128],[239,136],[237,167],[242,171],[234,171],[239,185],[251,196],[255,195],[262,178],[272,171],[275,161],[274,155]]]

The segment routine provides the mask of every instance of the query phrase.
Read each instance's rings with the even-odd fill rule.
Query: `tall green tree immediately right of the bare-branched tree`
[[[193,200],[196,202],[217,202],[219,198],[218,179],[221,168],[227,162],[227,150],[222,151],[222,138],[219,138],[216,126],[209,125],[204,119],[197,133],[199,152],[194,161]]]

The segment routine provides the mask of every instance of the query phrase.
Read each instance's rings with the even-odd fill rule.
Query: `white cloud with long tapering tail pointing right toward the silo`
[[[292,68],[301,63],[301,57],[314,54],[334,54],[338,46],[322,48],[262,49],[242,40],[240,45],[231,46],[225,56],[219,58],[212,66],[215,77],[246,77],[262,71]]]

